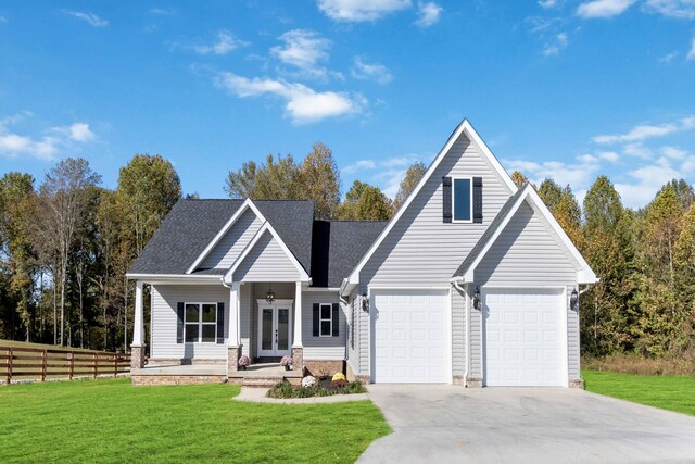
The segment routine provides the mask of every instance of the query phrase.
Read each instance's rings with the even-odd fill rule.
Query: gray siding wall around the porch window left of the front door
[[[229,289],[203,285],[156,285],[152,286],[152,327],[150,354],[155,359],[227,359],[225,344],[177,343],[178,302],[225,303],[225,334],[229,323]]]

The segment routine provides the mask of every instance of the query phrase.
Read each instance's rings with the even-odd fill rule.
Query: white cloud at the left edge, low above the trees
[[[24,112],[0,120],[0,154],[9,158],[28,155],[50,161],[62,148],[71,147],[73,142],[85,143],[96,138],[86,123],[52,127],[49,133],[53,135],[36,138],[20,135],[8,127],[29,116],[31,113]]]

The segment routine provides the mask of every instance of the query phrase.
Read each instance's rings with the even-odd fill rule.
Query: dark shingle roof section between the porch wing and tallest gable
[[[388,222],[315,221],[312,285],[340,287]]]

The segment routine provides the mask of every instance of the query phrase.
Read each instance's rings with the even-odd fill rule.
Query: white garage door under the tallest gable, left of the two
[[[377,383],[446,383],[447,290],[372,290]]]

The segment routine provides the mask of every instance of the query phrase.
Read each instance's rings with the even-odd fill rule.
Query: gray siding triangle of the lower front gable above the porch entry
[[[273,234],[265,231],[235,271],[235,281],[296,281],[300,274]]]

